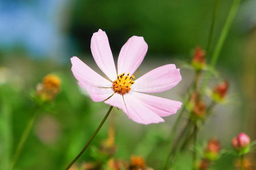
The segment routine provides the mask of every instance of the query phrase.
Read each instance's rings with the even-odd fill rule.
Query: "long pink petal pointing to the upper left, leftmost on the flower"
[[[93,71],[79,58],[72,57],[71,63],[71,70],[78,82],[86,82],[86,84],[96,87],[112,87],[112,83],[109,80],[106,80],[100,74]]]

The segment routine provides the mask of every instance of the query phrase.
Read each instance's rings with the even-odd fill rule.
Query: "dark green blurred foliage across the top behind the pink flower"
[[[220,1],[210,57],[225,22],[232,0]],[[132,35],[143,36],[148,53],[158,57],[188,59],[195,46],[206,48],[215,1],[83,1],[73,2],[68,32],[82,52],[90,53],[90,38],[98,28],[108,33],[110,46],[119,53]],[[239,15],[239,14],[238,14]],[[234,23],[221,52],[221,65],[238,71],[241,68],[244,35],[241,22]],[[236,46],[237,48],[232,48]],[[180,58],[181,57],[181,58]],[[236,69],[234,69],[236,68]]]

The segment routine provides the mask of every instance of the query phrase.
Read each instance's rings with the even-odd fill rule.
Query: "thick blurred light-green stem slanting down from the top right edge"
[[[221,30],[221,34],[220,34],[220,37],[218,38],[217,45],[216,45],[216,47],[215,47],[215,49],[213,51],[212,59],[210,60],[210,65],[209,66],[212,69],[216,65],[217,59],[220,56],[220,52],[221,52],[222,46],[224,44],[226,36],[228,35],[230,26],[233,23],[234,17],[236,16],[238,7],[240,5],[240,1],[241,0],[234,0],[233,5],[232,5],[232,7],[231,7],[231,9],[229,11],[229,14],[228,14],[228,18],[226,19],[224,27]],[[205,75],[204,83],[203,83],[203,86],[202,86],[203,93],[205,92],[205,88],[206,88],[206,86],[207,86],[207,84],[209,82],[209,79],[210,79],[211,75],[212,75],[211,72],[207,71],[207,74]]]

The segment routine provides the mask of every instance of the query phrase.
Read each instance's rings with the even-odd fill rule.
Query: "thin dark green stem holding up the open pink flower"
[[[74,160],[72,160],[71,163],[68,164],[68,166],[65,168],[66,170],[68,170],[75,162],[77,159],[80,158],[80,156],[84,153],[84,151],[86,150],[86,148],[90,145],[90,143],[93,141],[94,137],[96,137],[98,131],[100,131],[102,125],[105,123],[106,119],[109,116],[109,113],[111,112],[111,110],[113,109],[113,106],[110,106],[108,112],[106,113],[105,117],[102,119],[100,125],[98,126],[98,128],[96,129],[96,131],[93,133],[92,137],[90,137],[89,141],[86,143],[86,145],[84,146],[84,148],[82,148],[82,150],[79,152],[79,154],[76,156],[76,158]]]

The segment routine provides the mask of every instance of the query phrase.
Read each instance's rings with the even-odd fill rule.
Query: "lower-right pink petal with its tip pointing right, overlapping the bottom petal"
[[[182,103],[180,101],[164,99],[162,97],[141,94],[139,92],[130,91],[129,94],[133,95],[148,108],[151,109],[158,116],[166,117],[174,114],[181,108]]]

